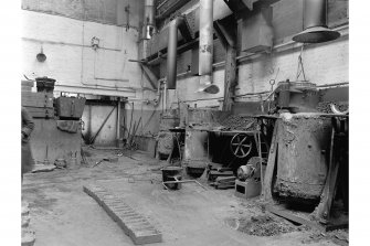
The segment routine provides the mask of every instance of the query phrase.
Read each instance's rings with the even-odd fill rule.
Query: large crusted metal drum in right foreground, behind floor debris
[[[277,119],[277,178],[274,191],[293,200],[317,201],[328,170],[330,118],[282,114]]]

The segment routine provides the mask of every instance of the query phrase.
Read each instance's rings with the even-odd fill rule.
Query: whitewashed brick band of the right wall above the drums
[[[341,30],[342,36],[336,41],[307,45],[302,52],[306,78],[317,85],[348,82],[348,28]],[[287,44],[272,54],[263,54],[242,61],[237,67],[236,95],[271,90],[269,81],[296,81],[298,56],[302,46]],[[224,68],[213,71],[214,83],[220,86],[220,93],[210,95],[195,93],[199,77],[179,77],[178,92],[169,92],[169,104],[177,107],[177,101],[187,101],[191,107],[220,108],[224,87]],[[303,79],[300,76],[299,79]],[[274,85],[274,88],[276,87]],[[237,101],[257,100],[258,97],[240,97]]]

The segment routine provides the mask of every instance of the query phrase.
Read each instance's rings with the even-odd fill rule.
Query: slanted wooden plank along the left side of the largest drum
[[[262,197],[265,201],[273,201],[272,194],[272,185],[273,185],[273,175],[274,169],[276,165],[276,152],[277,152],[277,132],[278,132],[278,121],[275,121],[274,131],[273,131],[273,139],[271,141],[271,148],[268,153],[267,167],[265,171],[265,177],[263,179],[263,190],[262,190]]]

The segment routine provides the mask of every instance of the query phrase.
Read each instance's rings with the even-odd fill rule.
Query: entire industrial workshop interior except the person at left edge
[[[21,8],[22,245],[349,244],[348,0]]]

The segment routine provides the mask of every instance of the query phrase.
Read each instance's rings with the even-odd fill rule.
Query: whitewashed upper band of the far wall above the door
[[[128,60],[138,57],[138,32],[124,26],[80,21],[22,10],[22,71],[30,77],[57,81],[55,90],[139,98],[141,69]],[[99,49],[91,47],[92,38]],[[43,46],[47,56],[36,61]],[[103,87],[103,86],[109,86]]]

